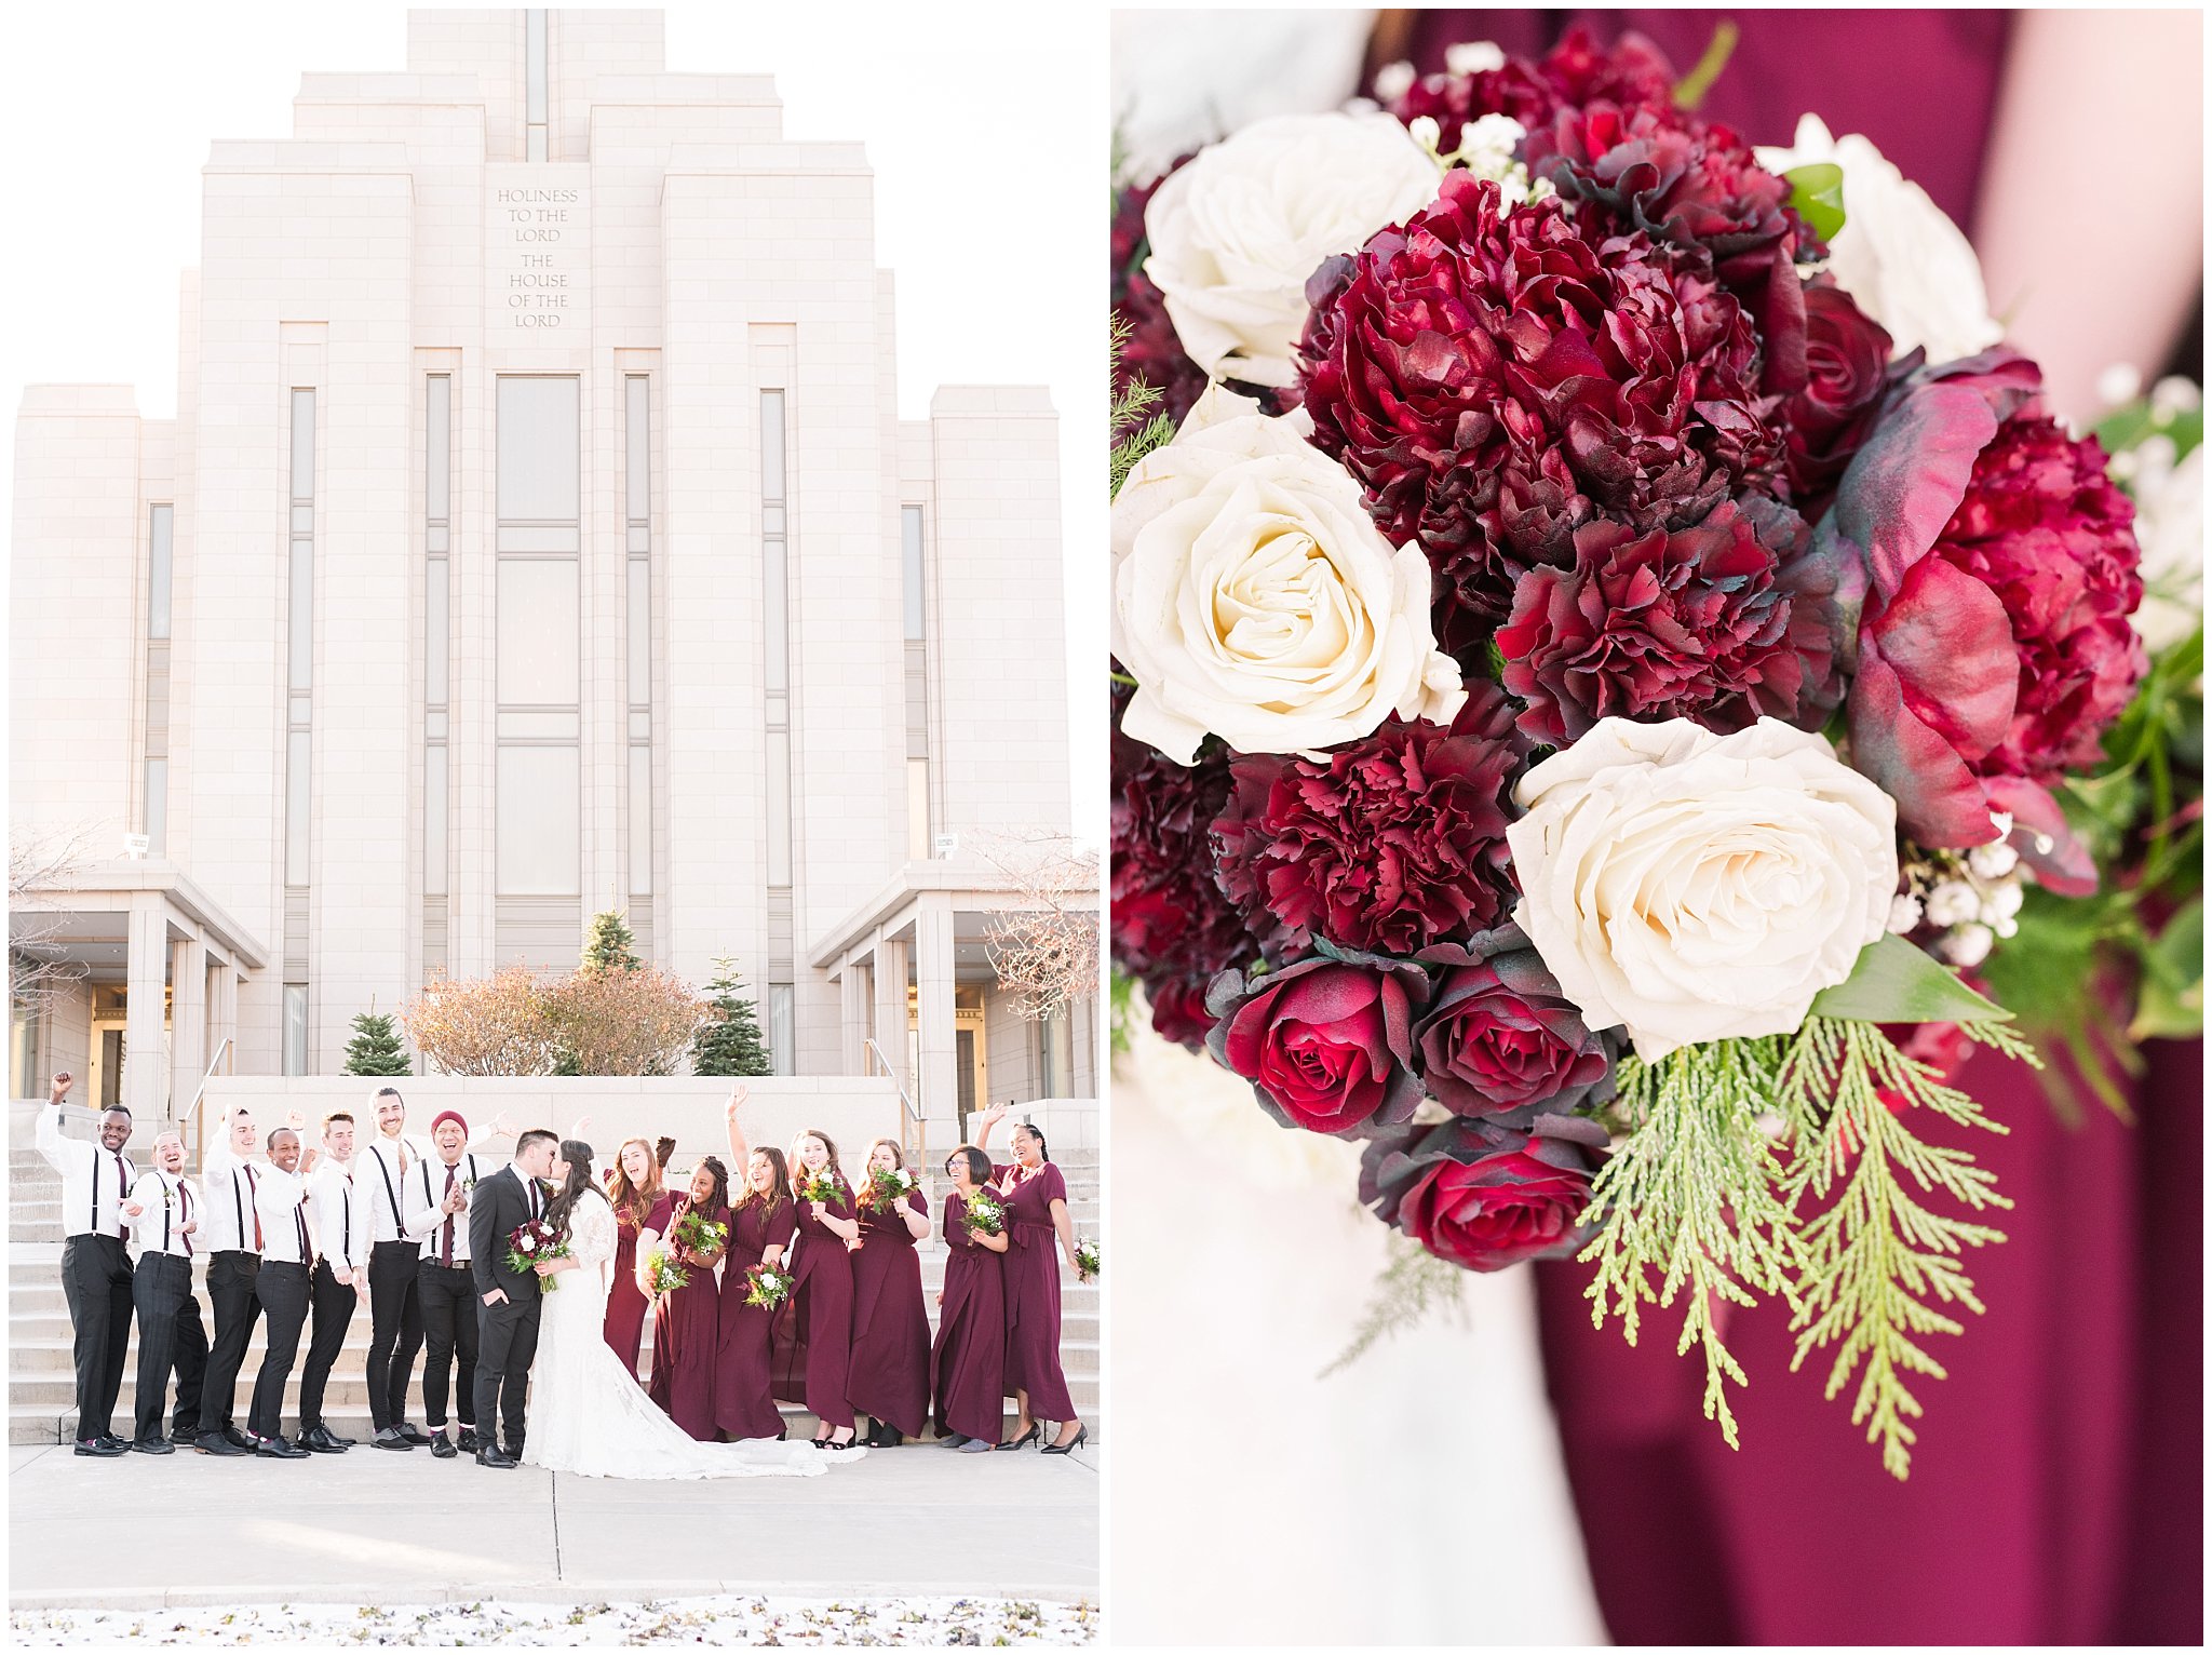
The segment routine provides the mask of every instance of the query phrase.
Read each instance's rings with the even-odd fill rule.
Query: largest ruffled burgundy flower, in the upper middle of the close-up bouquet
[[[1584,522],[1670,529],[1778,485],[1750,319],[1641,235],[1593,243],[1562,204],[1506,212],[1495,184],[1451,173],[1307,296],[1314,443],[1391,542],[1427,549],[1455,653],[1526,569],[1573,562]]]

